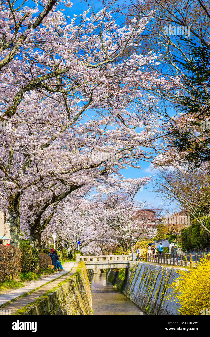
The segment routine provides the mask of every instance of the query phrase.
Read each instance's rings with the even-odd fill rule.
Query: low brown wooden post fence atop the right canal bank
[[[189,256],[189,259],[188,259]],[[198,254],[193,254],[195,256],[195,263],[198,262]],[[201,257],[203,257],[203,253],[201,253]],[[181,266],[181,267],[190,267],[192,268],[192,254],[146,254],[146,261],[157,263],[157,264],[164,264],[170,266]]]

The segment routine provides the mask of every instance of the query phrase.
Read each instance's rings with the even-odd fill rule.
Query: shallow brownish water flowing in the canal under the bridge
[[[107,280],[106,273],[90,276],[94,315],[145,315]]]

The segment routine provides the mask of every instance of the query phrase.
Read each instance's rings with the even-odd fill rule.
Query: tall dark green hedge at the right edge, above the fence
[[[205,226],[210,229],[210,218],[205,219]],[[181,249],[187,251],[205,247],[210,247],[210,236],[205,233],[196,220],[193,220],[191,226],[185,227],[181,231]]]

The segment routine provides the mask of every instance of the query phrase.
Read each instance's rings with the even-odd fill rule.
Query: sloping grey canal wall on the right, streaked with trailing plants
[[[148,315],[177,315],[179,304],[166,302],[167,286],[180,277],[176,269],[148,263],[136,263],[125,287],[120,272],[112,270],[109,280]],[[126,279],[126,277],[125,277]]]

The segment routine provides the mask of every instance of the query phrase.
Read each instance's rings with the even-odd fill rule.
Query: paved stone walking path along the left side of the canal
[[[37,298],[37,297],[39,297],[39,296],[41,296],[40,295],[41,294],[41,290],[44,288],[43,287],[44,285],[45,285],[45,287],[47,286],[47,289],[44,289],[43,293],[46,292],[47,290],[49,290],[50,288],[51,289],[54,288],[57,284],[59,284],[60,282],[62,282],[64,279],[70,277],[72,273],[69,273],[69,272],[71,271],[71,269],[73,268],[73,266],[74,266],[74,262],[66,262],[66,263],[64,263],[64,266],[63,266],[65,268],[65,271],[63,271],[63,272],[57,272],[56,274],[53,273],[52,275],[44,277],[41,280],[32,281],[29,285],[27,285],[25,287],[22,287],[22,288],[19,288],[19,289],[15,289],[15,290],[12,290],[11,292],[7,293],[7,294],[1,295],[0,296],[0,306],[2,304],[5,304],[5,303],[11,301],[11,300],[17,299],[18,297],[20,297],[20,296],[22,296],[24,294],[27,294],[27,293],[31,292],[32,290],[35,290],[35,289],[37,289],[39,287],[41,287],[41,288],[38,289],[38,290],[36,290],[35,293],[32,293],[30,295],[33,295],[34,299]],[[66,275],[67,273],[69,273],[69,274]],[[61,277],[62,275],[64,275],[64,277]],[[50,281],[53,281],[53,280],[56,280],[56,282],[50,282]],[[46,284],[48,282],[50,282],[50,283]],[[23,297],[23,299],[25,299],[25,302],[26,302],[26,297]],[[32,302],[32,301],[33,300],[30,300],[30,302]],[[14,303],[11,303],[11,304],[8,304],[8,305],[13,305],[14,306],[15,303],[16,303],[16,301]],[[4,309],[4,310],[8,309],[6,307],[3,307],[2,309]],[[19,308],[20,307],[21,307],[21,305],[19,304]],[[0,308],[0,310],[1,310],[1,308]],[[8,309],[8,310],[10,310],[10,309]],[[17,310],[18,309],[16,309],[16,311]]]

